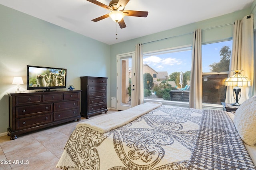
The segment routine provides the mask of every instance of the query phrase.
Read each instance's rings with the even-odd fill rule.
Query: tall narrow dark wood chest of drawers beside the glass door
[[[81,115],[108,113],[107,109],[107,77],[84,76],[81,79]]]

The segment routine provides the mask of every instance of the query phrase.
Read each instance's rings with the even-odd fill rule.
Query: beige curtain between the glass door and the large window
[[[143,49],[142,44],[137,44],[135,47],[135,71],[132,76],[135,76],[132,82],[132,107],[144,103],[144,84],[143,84]]]

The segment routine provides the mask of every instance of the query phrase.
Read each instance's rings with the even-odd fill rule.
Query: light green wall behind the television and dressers
[[[9,126],[14,76],[26,90],[26,65],[67,68],[67,85],[80,90],[80,76],[110,77],[110,45],[0,5],[0,134]]]

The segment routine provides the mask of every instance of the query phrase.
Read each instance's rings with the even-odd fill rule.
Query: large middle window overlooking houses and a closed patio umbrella
[[[191,49],[189,45],[143,55],[145,99],[188,102]]]

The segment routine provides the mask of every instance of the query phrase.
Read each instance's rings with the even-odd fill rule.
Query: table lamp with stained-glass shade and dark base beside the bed
[[[241,88],[240,87],[251,86],[251,80],[240,73],[244,70],[232,70],[232,71],[234,71],[234,75],[228,77],[225,80],[225,86],[235,86],[233,89],[233,96],[234,96],[234,94],[236,95],[236,96],[234,96],[236,102],[231,105],[232,106],[240,106],[240,104],[238,103],[238,100],[241,97]]]

